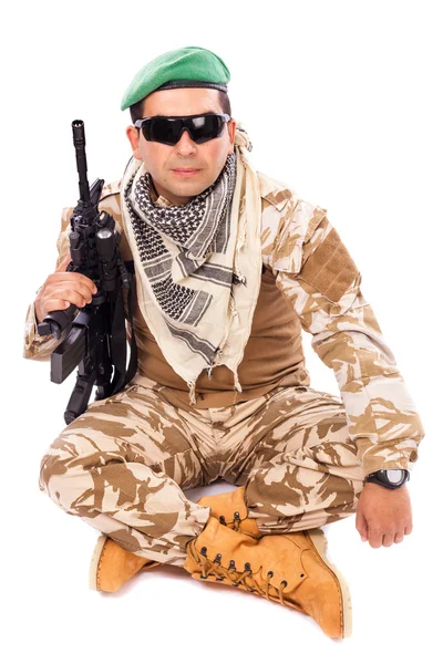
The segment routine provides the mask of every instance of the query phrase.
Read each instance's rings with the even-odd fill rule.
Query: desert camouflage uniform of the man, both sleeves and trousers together
[[[187,488],[217,478],[245,485],[248,517],[262,533],[315,528],[356,511],[369,473],[411,470],[424,436],[327,210],[262,174],[259,183],[264,264],[333,370],[341,398],[313,390],[306,373],[300,385],[196,408],[168,401],[159,382],[138,373],[122,393],[93,402],[43,456],[40,489],[152,560],[183,564],[186,542],[206,523],[209,508],[188,500]],[[102,207],[120,225],[131,260],[119,191],[119,183],[107,185]],[[71,214],[63,210],[56,264],[69,248]],[[58,343],[39,338],[30,304],[24,356],[49,360]]]

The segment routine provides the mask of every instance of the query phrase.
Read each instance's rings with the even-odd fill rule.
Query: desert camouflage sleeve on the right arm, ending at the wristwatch
[[[411,470],[423,424],[361,292],[361,273],[326,209],[281,188],[274,190],[274,200],[277,206],[264,214],[264,261],[312,335],[312,349],[334,372],[365,475],[382,468]]]

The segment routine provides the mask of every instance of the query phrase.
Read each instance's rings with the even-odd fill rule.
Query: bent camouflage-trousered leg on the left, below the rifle
[[[41,460],[39,488],[124,549],[181,567],[210,513],[183,492],[205,478],[192,445],[171,404],[130,386],[63,429]]]

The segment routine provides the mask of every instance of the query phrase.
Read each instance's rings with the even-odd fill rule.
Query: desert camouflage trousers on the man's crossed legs
[[[182,409],[155,387],[136,376],[92,402],[49,447],[39,487],[65,512],[179,567],[210,515],[184,490],[218,478],[245,486],[248,517],[264,535],[356,512],[363,471],[340,398],[276,387],[235,406]]]

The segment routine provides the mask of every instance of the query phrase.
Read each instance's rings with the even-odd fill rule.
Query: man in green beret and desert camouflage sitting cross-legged
[[[94,589],[176,564],[344,637],[349,589],[320,527],[357,512],[371,547],[401,542],[424,430],[326,210],[255,170],[228,81],[217,55],[188,46],[150,62],[126,91],[133,158],[101,208],[135,264],[138,371],[49,447],[40,489],[103,533]],[[59,343],[37,322],[95,292],[65,272],[71,214],[29,308],[27,357]],[[310,387],[301,328],[341,400]],[[197,502],[183,492],[218,478],[237,488]]]

